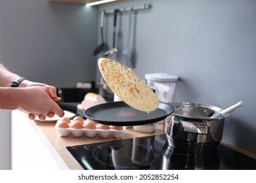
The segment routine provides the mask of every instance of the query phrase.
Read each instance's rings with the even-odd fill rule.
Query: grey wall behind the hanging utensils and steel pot
[[[256,154],[256,1],[136,0],[100,10],[143,3],[152,9],[133,14],[137,61],[133,71],[142,78],[145,73],[179,76],[177,102],[226,108],[244,101],[244,107],[226,118],[223,141]],[[116,60],[121,63],[127,20],[127,13],[117,20]],[[108,14],[105,34],[110,47],[112,22]]]

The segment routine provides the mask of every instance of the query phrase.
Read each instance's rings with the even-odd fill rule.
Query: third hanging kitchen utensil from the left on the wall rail
[[[131,53],[129,52],[129,46],[130,46],[130,39],[131,39],[131,17],[133,14],[133,10],[131,9],[129,11],[129,23],[128,23],[128,35],[127,35],[127,44],[125,49],[122,52],[123,55],[123,59],[125,64],[127,65],[127,67],[129,68],[135,68],[135,65],[133,64],[133,62],[131,61]]]

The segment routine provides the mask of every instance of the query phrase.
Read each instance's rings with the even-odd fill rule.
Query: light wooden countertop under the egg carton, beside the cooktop
[[[27,120],[32,125],[33,129],[35,129],[40,139],[43,141],[43,144],[45,144],[47,150],[51,153],[51,156],[53,156],[60,169],[81,169],[81,167],[75,162],[74,158],[72,158],[72,156],[70,156],[69,152],[66,150],[66,146],[117,140],[114,137],[102,138],[98,135],[93,138],[86,137],[85,135],[82,137],[73,137],[71,134],[67,137],[60,137],[54,128],[56,122],[41,122],[29,119]],[[163,126],[161,124],[156,124],[156,130],[153,133],[141,133],[133,130],[132,127],[129,127],[125,130],[121,139],[158,135],[163,133],[162,127]]]

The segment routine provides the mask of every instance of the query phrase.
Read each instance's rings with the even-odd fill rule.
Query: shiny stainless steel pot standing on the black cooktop
[[[165,119],[163,133],[169,146],[188,153],[213,152],[223,137],[223,109],[198,103],[171,103],[173,114]]]

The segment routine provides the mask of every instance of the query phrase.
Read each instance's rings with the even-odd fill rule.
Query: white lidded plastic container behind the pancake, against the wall
[[[156,95],[161,103],[171,103],[175,101],[176,83],[178,76],[166,73],[146,74],[145,78],[150,88],[156,90]]]

